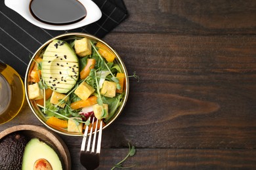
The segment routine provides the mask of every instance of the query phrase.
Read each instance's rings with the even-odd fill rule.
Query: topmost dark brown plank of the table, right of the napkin
[[[129,33],[178,35],[255,34],[256,2],[210,1],[125,1],[129,18],[115,29]]]

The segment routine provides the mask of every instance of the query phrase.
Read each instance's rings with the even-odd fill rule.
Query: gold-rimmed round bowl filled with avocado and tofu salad
[[[83,135],[91,120],[103,129],[121,114],[129,93],[127,70],[106,42],[66,33],[45,42],[25,77],[26,99],[35,116],[63,135]]]

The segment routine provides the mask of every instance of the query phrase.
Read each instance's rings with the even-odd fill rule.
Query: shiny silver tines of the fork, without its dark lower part
[[[91,120],[91,117],[89,119]],[[98,131],[98,139],[96,139],[98,123],[100,124],[100,129]],[[95,130],[94,130],[94,134],[93,134],[94,124],[96,124],[96,126],[95,126]],[[89,135],[88,135],[88,132],[89,132]],[[88,136],[88,141],[87,141],[87,136]],[[93,143],[91,144],[92,136],[93,136]],[[101,136],[102,136],[102,120],[100,122],[98,122],[98,119],[97,119],[95,122],[95,117],[93,117],[93,121],[91,123],[91,128],[89,129],[89,126],[85,127],[85,133],[83,134],[83,141],[81,144],[81,151],[85,151],[85,145],[87,142],[87,150],[86,151],[92,152],[92,153],[95,152],[95,144],[97,141],[96,153],[100,154]]]

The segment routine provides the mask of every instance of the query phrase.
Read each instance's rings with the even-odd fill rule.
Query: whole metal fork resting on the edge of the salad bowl
[[[91,120],[91,117],[90,117]],[[87,169],[92,170],[96,169],[98,165],[100,165],[100,145],[101,145],[101,137],[102,137],[102,120],[100,121],[100,129],[98,131],[98,139],[96,140],[97,127],[98,127],[98,119],[96,120],[95,133],[93,135],[93,125],[95,124],[95,117],[93,117],[93,122],[91,124],[90,133],[88,135],[89,126],[86,126],[85,133],[83,134],[83,141],[81,144],[81,152],[80,152],[80,162]],[[87,141],[87,136],[89,137]],[[91,139],[93,136],[93,142],[91,145]],[[85,145],[87,141],[87,149],[85,150]],[[95,152],[95,144],[96,152]]]

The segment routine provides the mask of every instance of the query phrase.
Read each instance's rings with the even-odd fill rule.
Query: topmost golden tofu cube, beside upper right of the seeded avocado
[[[75,53],[80,57],[90,55],[91,43],[89,42],[89,39],[83,38],[75,40]]]

